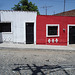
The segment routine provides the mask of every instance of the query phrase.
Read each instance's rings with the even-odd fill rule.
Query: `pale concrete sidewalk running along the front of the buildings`
[[[75,45],[53,46],[53,45],[34,45],[34,44],[13,44],[0,43],[0,49],[46,49],[46,50],[75,50]]]

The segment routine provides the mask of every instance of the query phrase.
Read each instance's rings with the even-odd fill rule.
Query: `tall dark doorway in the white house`
[[[26,44],[34,44],[34,23],[26,23]]]

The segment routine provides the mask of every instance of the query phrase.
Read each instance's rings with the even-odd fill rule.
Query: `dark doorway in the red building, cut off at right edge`
[[[75,26],[69,27],[69,44],[75,44]]]

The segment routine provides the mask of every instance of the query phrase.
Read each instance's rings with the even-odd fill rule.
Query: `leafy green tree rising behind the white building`
[[[28,0],[21,0],[17,5],[14,5],[12,8],[15,11],[37,11],[39,15],[38,7],[32,2],[28,2]]]

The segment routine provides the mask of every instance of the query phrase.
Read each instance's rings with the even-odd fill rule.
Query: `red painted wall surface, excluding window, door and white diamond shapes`
[[[38,15],[36,23],[36,44],[67,45],[67,25],[75,24],[75,17]],[[46,37],[46,24],[59,24],[59,37]],[[58,43],[48,43],[48,39],[58,39]]]

